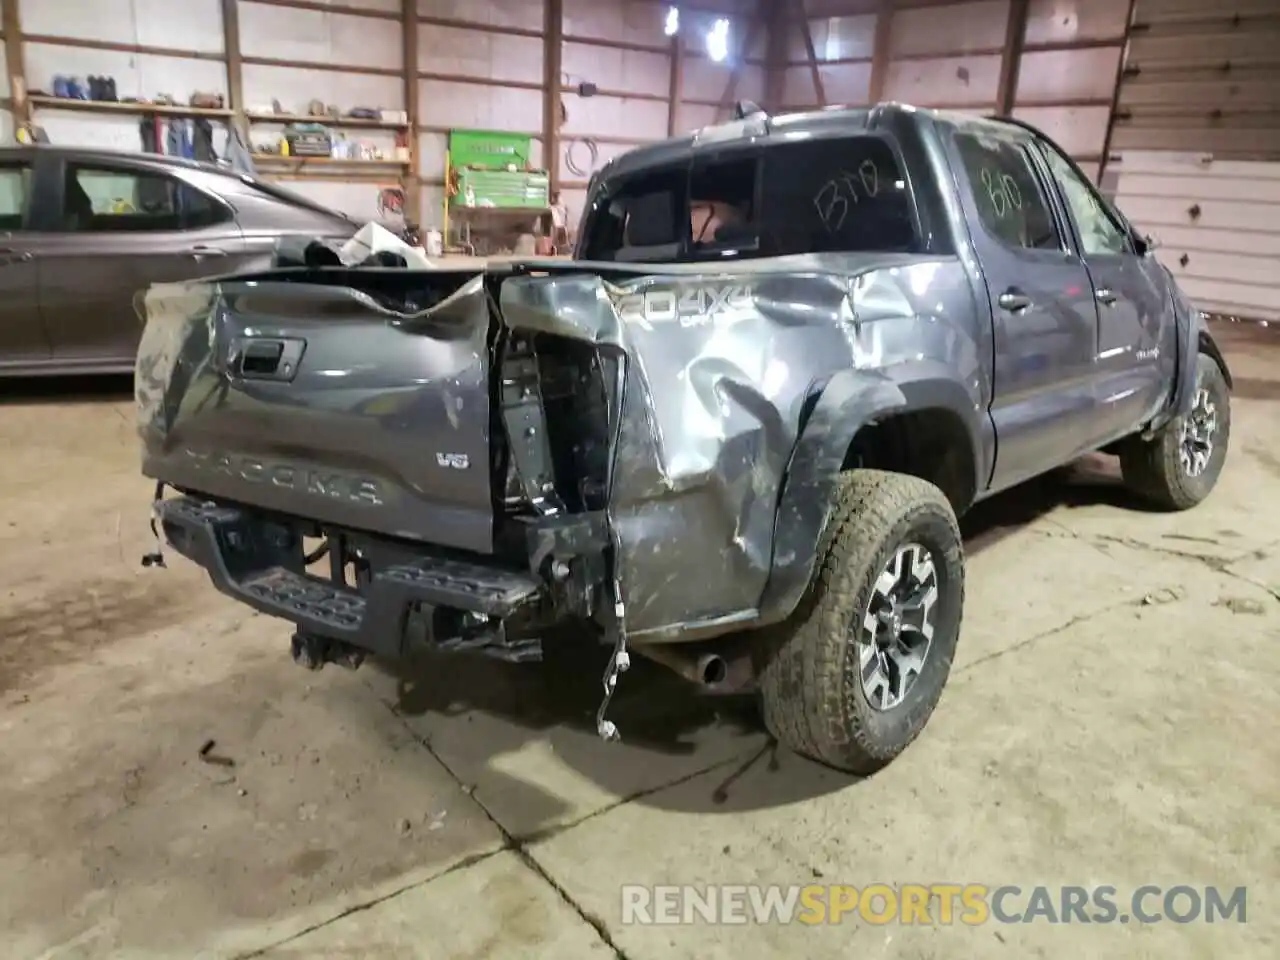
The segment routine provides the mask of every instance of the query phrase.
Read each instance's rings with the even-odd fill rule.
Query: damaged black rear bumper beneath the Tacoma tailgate
[[[352,586],[306,572],[306,521],[193,497],[159,500],[156,511],[169,547],[204,567],[223,594],[293,622],[301,634],[380,657],[403,654],[411,614],[426,623],[440,621],[436,612],[460,614],[445,622],[471,623],[472,634],[503,635],[513,620],[532,623],[590,616],[595,602],[588,577],[598,564],[582,562],[595,540],[581,526],[570,532],[531,527],[530,570],[525,571],[417,553],[402,544],[381,550],[361,544],[361,556],[376,559]],[[358,541],[358,535],[352,539]],[[543,568],[568,575],[534,572]],[[344,570],[346,558],[337,566]],[[465,640],[461,635],[429,639],[443,646]]]

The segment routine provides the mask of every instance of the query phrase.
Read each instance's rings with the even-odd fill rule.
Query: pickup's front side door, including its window
[[[1128,225],[1093,184],[1048,141],[1038,137],[1037,151],[1060,188],[1098,303],[1092,440],[1101,447],[1169,401],[1176,365],[1172,298],[1164,270],[1139,256]]]

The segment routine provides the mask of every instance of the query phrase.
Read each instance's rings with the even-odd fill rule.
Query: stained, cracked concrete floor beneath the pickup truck
[[[142,571],[124,392],[0,406],[0,954],[1280,955],[1280,349],[1221,332],[1233,451],[1198,509],[1084,465],[969,527],[959,662],[854,781],[740,704],[599,663],[306,673],[189,564]],[[1280,340],[1277,340],[1280,342]],[[1276,372],[1272,372],[1276,371]],[[209,755],[201,746],[215,741]],[[622,883],[1248,886],[1248,923],[636,927]]]

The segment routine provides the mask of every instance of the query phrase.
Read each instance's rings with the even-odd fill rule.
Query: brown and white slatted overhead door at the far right
[[[1201,308],[1280,320],[1280,0],[1138,0],[1106,180]]]

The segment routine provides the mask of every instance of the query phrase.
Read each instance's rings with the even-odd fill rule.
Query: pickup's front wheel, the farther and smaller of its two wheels
[[[1120,451],[1120,471],[1129,489],[1153,504],[1189,509],[1217,484],[1230,438],[1226,378],[1212,357],[1201,353],[1192,410],[1170,420],[1151,440],[1130,438]]]

